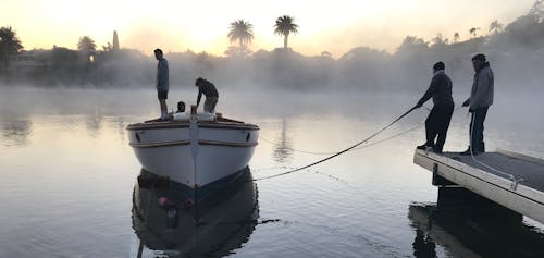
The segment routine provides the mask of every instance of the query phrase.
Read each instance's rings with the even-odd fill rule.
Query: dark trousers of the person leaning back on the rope
[[[454,106],[434,106],[425,120],[426,146],[434,146],[434,150],[442,152],[444,143],[446,143],[447,128],[452,114],[454,113]],[[436,138],[436,136],[438,136]],[[436,143],[434,143],[436,138]]]

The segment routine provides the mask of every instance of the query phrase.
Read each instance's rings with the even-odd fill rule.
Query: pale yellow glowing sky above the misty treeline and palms
[[[53,46],[76,49],[82,36],[98,49],[112,42],[149,52],[207,51],[223,54],[231,45],[228,25],[243,19],[254,25],[251,50],[283,47],[274,22],[289,15],[298,33],[295,51],[341,57],[356,47],[394,52],[407,35],[431,40],[438,33],[469,38],[471,27],[486,34],[491,22],[508,24],[526,14],[534,0],[0,0],[0,26],[11,26],[25,49]]]

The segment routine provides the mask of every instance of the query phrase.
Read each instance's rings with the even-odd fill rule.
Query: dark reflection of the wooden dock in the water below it
[[[508,217],[438,207],[409,207],[415,257],[544,257],[544,233],[535,228]]]

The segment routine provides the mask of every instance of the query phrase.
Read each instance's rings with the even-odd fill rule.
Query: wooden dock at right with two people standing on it
[[[507,150],[461,156],[416,150],[413,162],[433,172],[433,185],[460,186],[544,224],[544,160]],[[521,216],[520,216],[521,218]]]

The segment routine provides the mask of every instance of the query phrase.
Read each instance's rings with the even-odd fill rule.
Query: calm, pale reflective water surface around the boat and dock
[[[412,163],[424,134],[423,127],[409,130],[421,125],[424,109],[374,142],[405,132],[396,138],[226,189],[199,211],[195,225],[190,210],[169,221],[157,201],[168,193],[137,187],[140,165],[124,128],[157,116],[153,89],[0,90],[0,257],[544,254],[544,226],[530,219],[507,226],[436,211],[431,174]],[[486,147],[542,157],[541,96],[499,94],[486,121]],[[196,93],[170,97],[173,107],[174,99],[195,101]],[[259,179],[326,157],[308,152],[341,150],[368,137],[419,97],[236,90],[222,93],[218,111],[260,126],[250,162]],[[446,150],[467,147],[468,123],[466,110],[454,114]]]

